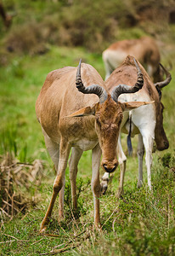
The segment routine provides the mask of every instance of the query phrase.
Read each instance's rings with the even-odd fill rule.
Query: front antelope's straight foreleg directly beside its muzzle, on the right
[[[101,148],[99,148],[99,144],[93,148],[92,154],[92,181],[91,188],[93,190],[93,206],[94,206],[94,226],[99,229],[101,227],[100,224],[100,215],[99,215],[99,196],[100,196],[100,183],[99,183],[99,165],[100,165],[100,157],[101,157]]]

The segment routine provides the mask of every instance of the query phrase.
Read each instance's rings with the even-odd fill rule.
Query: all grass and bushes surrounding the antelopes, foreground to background
[[[175,254],[175,5],[173,1],[1,1],[14,15],[0,20],[0,254],[1,255],[174,255]],[[76,67],[80,58],[104,78],[101,52],[124,38],[150,35],[161,62],[172,66],[172,82],[162,90],[164,128],[170,143],[153,154],[153,190],[137,188],[137,137],[127,157],[125,194],[117,199],[119,168],[100,198],[102,232],[93,230],[91,152],[84,152],[77,176],[78,211],[71,206],[66,170],[65,220],[58,201],[48,236],[39,234],[54,182],[54,166],[44,145],[35,102],[46,75]],[[171,65],[170,65],[171,64]],[[126,137],[122,145],[127,154]],[[100,175],[103,171],[100,170]]]

